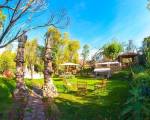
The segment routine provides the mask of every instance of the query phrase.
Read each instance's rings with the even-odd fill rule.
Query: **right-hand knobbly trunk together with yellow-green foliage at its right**
[[[70,40],[66,33],[62,37],[58,29],[53,27],[48,29],[45,37],[43,95],[51,98],[57,96],[57,89],[52,81],[54,64],[58,65],[60,62],[65,62],[63,59],[65,52],[71,55],[71,62],[78,60],[80,43],[76,40]],[[70,60],[70,57],[67,60]]]

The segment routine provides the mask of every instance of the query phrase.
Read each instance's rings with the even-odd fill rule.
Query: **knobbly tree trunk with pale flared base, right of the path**
[[[56,87],[52,81],[52,39],[48,36],[45,45],[44,54],[44,86],[43,86],[43,96],[48,98],[53,98],[58,95]]]

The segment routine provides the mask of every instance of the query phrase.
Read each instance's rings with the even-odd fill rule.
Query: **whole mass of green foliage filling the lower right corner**
[[[138,69],[138,68],[137,68]],[[127,99],[125,109],[122,112],[124,119],[144,120],[150,117],[149,100],[150,100],[150,77],[147,72],[139,72],[134,74],[130,83],[130,97]]]

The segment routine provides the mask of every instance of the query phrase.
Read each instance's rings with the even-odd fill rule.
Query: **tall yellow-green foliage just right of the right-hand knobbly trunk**
[[[47,35],[51,35],[53,68],[56,72],[59,64],[64,62],[78,62],[80,43],[72,40],[68,33],[61,33],[58,29],[50,27]]]

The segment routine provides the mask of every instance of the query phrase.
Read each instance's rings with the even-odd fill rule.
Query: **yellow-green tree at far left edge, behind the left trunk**
[[[15,69],[15,53],[10,50],[5,50],[0,54],[0,71],[14,70]]]

